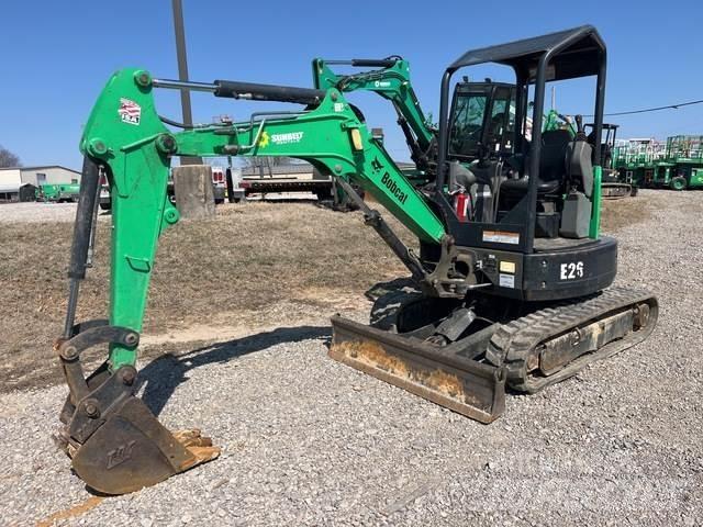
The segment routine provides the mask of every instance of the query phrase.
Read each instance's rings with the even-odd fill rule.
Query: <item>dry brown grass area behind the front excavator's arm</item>
[[[652,200],[605,202],[604,231],[644,221]],[[66,310],[72,206],[42,222],[37,216],[47,217],[51,205],[22,205],[14,221],[0,228],[0,391],[62,380],[51,344],[60,335]],[[0,209],[0,216],[8,210]],[[107,315],[110,216],[100,220],[79,321]],[[388,220],[412,243],[408,231]],[[343,214],[314,202],[224,205],[213,221],[185,221],[164,234],[143,356],[159,355],[165,346],[320,323],[336,311],[364,311],[369,305],[364,293],[371,285],[405,274],[360,213]]]

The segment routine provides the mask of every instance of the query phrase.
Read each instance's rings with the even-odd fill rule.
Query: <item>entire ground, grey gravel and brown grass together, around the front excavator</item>
[[[327,358],[328,316],[362,319],[365,291],[405,274],[358,213],[261,203],[183,222],[157,258],[142,397],[224,453],[115,498],[87,492],[49,438],[66,394],[51,341],[70,218],[7,222],[0,208],[0,524],[698,525],[701,195],[605,203],[617,283],[659,298],[655,333],[539,395],[511,394],[490,426]],[[83,319],[105,312],[109,225]]]

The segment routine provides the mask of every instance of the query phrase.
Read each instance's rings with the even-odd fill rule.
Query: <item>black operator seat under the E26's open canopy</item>
[[[573,141],[568,130],[550,130],[542,134],[542,155],[539,173],[537,175],[537,193],[551,194],[558,192],[567,177],[566,155],[569,143]],[[529,156],[525,157],[523,173],[529,173]],[[521,194],[527,192],[529,178],[506,179],[501,184],[501,192]]]

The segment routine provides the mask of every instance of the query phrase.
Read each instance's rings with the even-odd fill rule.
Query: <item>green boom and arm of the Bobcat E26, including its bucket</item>
[[[174,133],[157,114],[156,87],[211,91],[216,97],[297,102],[294,112],[255,113],[248,121]],[[136,357],[158,238],[179,220],[167,199],[171,157],[287,156],[304,159],[346,184],[355,182],[422,242],[438,244],[445,228],[336,88],[325,90],[234,81],[187,83],[153,79],[141,69],[115,72],[96,103],[80,142],[83,178],[69,267],[70,294],[56,351],[69,385],[58,439],[76,472],[96,490],[120,494],[155,484],[217,449],[198,430],[171,434],[141,400]],[[86,274],[100,170],[112,197],[110,317],[75,324]],[[350,192],[352,188],[346,184]],[[360,200],[359,200],[360,201]],[[376,211],[364,208],[393,251],[422,279],[425,270]],[[80,354],[108,344],[109,359],[83,378]]]

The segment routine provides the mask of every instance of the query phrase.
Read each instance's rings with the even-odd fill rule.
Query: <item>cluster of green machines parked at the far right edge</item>
[[[629,139],[614,148],[621,179],[639,188],[673,190],[703,188],[703,136],[674,135],[661,144]]]

